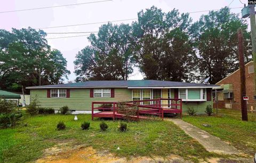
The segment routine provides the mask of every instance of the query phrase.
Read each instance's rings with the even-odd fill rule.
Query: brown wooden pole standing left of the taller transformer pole
[[[239,52],[239,66],[240,66],[240,91],[241,91],[241,110],[242,110],[242,120],[248,121],[247,117],[247,103],[243,99],[246,96],[246,83],[245,83],[245,67],[244,67],[244,46],[243,46],[243,33],[242,29],[237,30],[238,35],[238,52]]]

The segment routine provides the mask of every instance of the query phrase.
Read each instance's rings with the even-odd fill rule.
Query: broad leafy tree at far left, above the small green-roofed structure
[[[51,51],[45,36],[43,30],[30,27],[0,30],[1,88],[19,91],[21,85],[58,84],[62,76],[67,77],[66,59]]]

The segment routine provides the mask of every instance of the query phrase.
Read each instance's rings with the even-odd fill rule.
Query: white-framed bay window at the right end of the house
[[[179,89],[179,99],[182,101],[206,101],[205,88]]]

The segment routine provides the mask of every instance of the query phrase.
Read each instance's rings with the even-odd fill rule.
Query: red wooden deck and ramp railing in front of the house
[[[123,118],[125,115],[119,110],[118,104],[123,104],[125,108],[136,106],[136,116],[134,118],[145,118],[145,115],[155,115],[162,119],[164,113],[180,113],[182,117],[182,99],[151,99],[127,102],[92,102],[92,120],[94,117]],[[146,104],[145,104],[146,103]],[[111,104],[111,107],[101,107],[102,104]],[[97,105],[97,106],[95,106]],[[100,112],[95,113],[94,110]]]

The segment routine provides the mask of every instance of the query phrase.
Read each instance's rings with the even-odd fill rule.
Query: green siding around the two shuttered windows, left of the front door
[[[30,102],[38,96],[41,107],[60,109],[67,105],[70,110],[91,110],[93,101],[131,101],[132,91],[127,88],[115,88],[114,98],[90,97],[90,89],[70,89],[69,98],[47,98],[47,89],[30,89]]]

